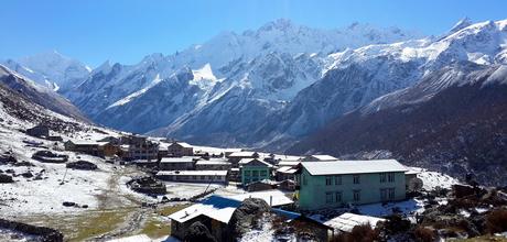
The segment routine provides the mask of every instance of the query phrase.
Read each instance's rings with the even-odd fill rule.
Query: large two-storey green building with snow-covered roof
[[[406,198],[407,167],[396,160],[303,162],[299,205],[302,210],[338,208]]]

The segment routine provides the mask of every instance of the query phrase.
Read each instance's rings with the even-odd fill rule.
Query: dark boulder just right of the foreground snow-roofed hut
[[[240,238],[244,233],[259,224],[262,217],[270,211],[269,205],[260,198],[247,198],[234,211],[228,228],[233,238]]]

